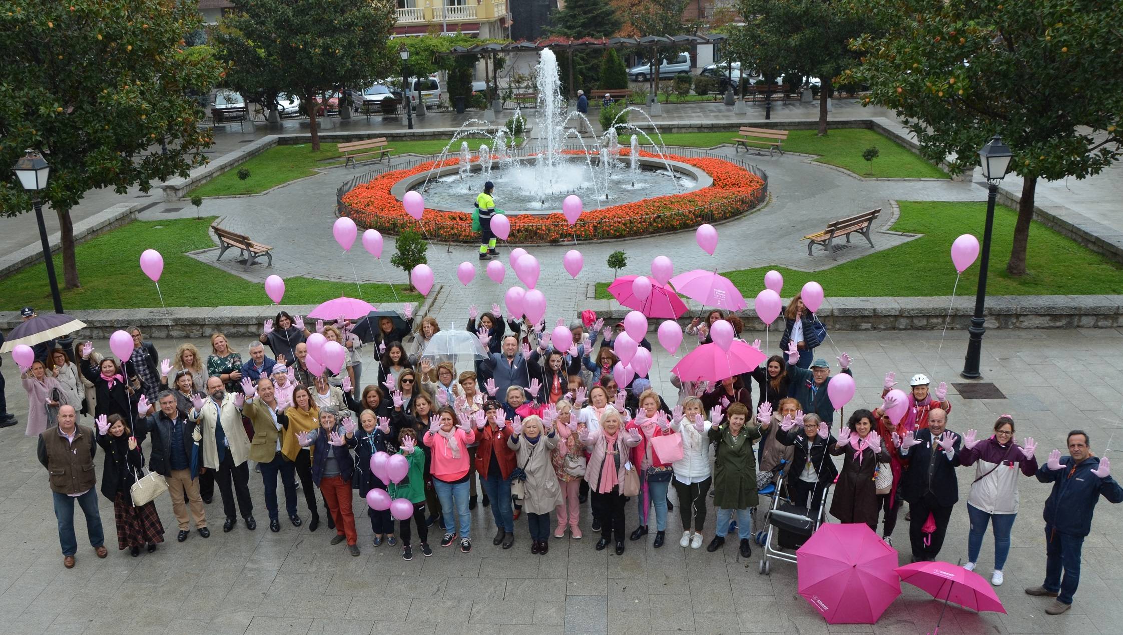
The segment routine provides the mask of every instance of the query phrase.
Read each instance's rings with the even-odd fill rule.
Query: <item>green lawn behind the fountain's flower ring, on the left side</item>
[[[486,141],[486,139],[465,140],[473,150],[478,149],[480,144]],[[436,155],[448,145],[448,141],[440,139],[419,141],[390,139],[389,145],[393,148],[391,151],[392,155],[404,153]],[[459,151],[459,144],[449,151]],[[365,158],[374,159],[376,157],[372,155]],[[364,159],[360,158],[359,160]],[[261,194],[282,183],[311,176],[316,174],[314,168],[330,167],[341,165],[343,163],[343,153],[336,149],[336,144],[320,144],[320,151],[318,153],[312,151],[311,144],[274,146],[192,190],[188,193],[188,197],[194,194],[202,196]],[[249,178],[245,181],[238,178],[238,171],[243,168],[249,171]]]

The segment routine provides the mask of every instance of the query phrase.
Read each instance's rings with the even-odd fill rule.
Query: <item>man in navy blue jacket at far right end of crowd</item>
[[[1123,488],[1111,477],[1111,461],[1092,455],[1086,432],[1068,433],[1068,454],[1061,458],[1060,450],[1053,450],[1049,461],[1038,468],[1038,480],[1053,484],[1044,510],[1046,581],[1025,592],[1057,598],[1046,608],[1049,615],[1072,607],[1072,595],[1080,583],[1080,549],[1084,536],[1092,530],[1092,512],[1099,497],[1123,503]]]

